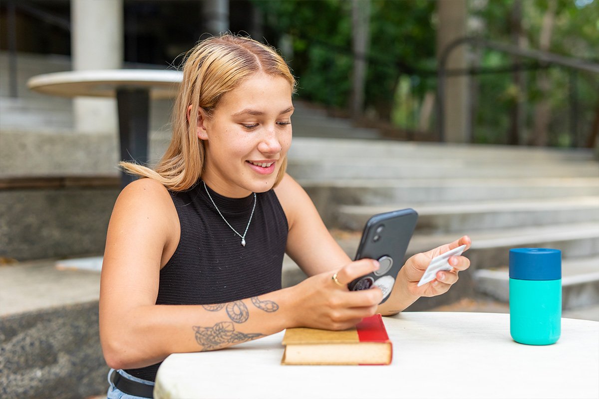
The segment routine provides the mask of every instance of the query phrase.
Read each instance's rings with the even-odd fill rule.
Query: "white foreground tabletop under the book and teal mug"
[[[554,345],[510,337],[509,314],[404,312],[383,318],[391,366],[282,366],[283,332],[170,355],[164,398],[597,398],[599,322],[562,319]],[[190,328],[190,333],[192,329]]]

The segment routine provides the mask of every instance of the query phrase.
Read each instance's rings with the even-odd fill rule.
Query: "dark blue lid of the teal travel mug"
[[[561,279],[561,251],[550,248],[510,249],[510,278],[519,280]]]

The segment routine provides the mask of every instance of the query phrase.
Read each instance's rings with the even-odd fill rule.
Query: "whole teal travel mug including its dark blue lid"
[[[561,334],[561,288],[559,249],[510,249],[510,334],[516,342],[557,342]]]

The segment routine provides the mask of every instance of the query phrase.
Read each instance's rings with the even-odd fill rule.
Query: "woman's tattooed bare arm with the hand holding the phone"
[[[348,293],[330,276],[223,304],[156,305],[159,272],[179,243],[167,190],[151,179],[129,184],[108,226],[100,292],[100,337],[108,366],[137,368],[176,352],[209,351],[287,327],[342,329],[374,312],[376,293]],[[346,278],[369,273],[353,264]]]

